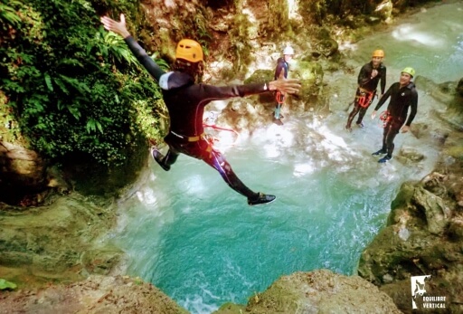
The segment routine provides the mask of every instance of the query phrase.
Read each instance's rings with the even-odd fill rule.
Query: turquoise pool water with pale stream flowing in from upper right
[[[382,47],[387,87],[405,66],[436,82],[459,80],[462,8],[459,2],[412,15],[345,53],[360,69],[373,48]],[[128,252],[128,271],[193,313],[211,313],[229,301],[246,303],[295,271],[353,274],[401,184],[428,174],[439,155],[432,143],[401,134],[397,154],[401,147],[415,147],[425,158],[379,165],[371,153],[381,147],[383,130],[368,118],[372,109],[364,118],[366,128],[345,133],[343,106],[353,98],[356,74],[334,74],[331,83],[339,93],[330,100],[328,118],[288,117],[283,127],[261,128],[226,151],[247,186],[278,196],[270,205],[250,207],[211,167],[193,158],[179,157],[169,172],[151,162],[149,180],[121,204],[120,233],[114,236]],[[433,100],[418,90],[414,123],[426,123]]]

